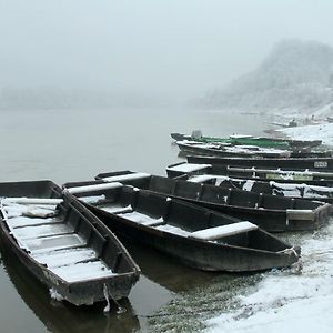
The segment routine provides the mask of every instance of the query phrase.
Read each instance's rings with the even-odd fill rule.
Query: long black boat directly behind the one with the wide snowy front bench
[[[265,195],[131,171],[100,173],[97,179],[100,182],[119,181],[150,192],[196,203],[249,220],[270,232],[314,230],[324,224],[332,213],[331,204],[319,201]]]

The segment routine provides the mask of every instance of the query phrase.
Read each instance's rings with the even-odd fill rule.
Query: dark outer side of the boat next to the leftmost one
[[[204,271],[252,272],[283,268],[296,262],[294,255],[268,254],[255,250],[234,249],[199,242],[135,225],[90,206],[115,233],[167,253],[179,262]]]

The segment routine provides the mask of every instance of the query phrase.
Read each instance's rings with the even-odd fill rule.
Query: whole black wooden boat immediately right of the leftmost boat
[[[119,182],[64,186],[113,231],[195,269],[259,271],[287,266],[299,258],[300,249],[290,251],[290,245],[249,221],[170,196]]]

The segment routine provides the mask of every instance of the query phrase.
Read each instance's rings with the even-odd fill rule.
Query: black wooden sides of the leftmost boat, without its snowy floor
[[[140,269],[132,261],[117,238],[73,195],[62,194],[62,189],[51,181],[38,181],[0,183],[0,196],[61,198],[63,200],[63,204],[68,209],[68,215],[74,219],[77,214],[80,214],[80,219],[82,218],[93,225],[97,230],[97,234],[103,234],[107,242],[103,248],[104,253],[101,252],[100,254],[102,260],[105,262],[112,258],[114,260],[117,258],[117,249],[119,252],[123,253],[123,261],[121,264],[123,264],[124,268],[122,274],[114,274],[112,278],[108,276],[68,282],[52,272],[52,270],[48,268],[48,264],[38,262],[29,254],[29,251],[22,249],[18,241],[12,236],[1,216],[0,234],[3,243],[7,245],[9,251],[16,254],[22,265],[27,268],[38,281],[50,290],[51,296],[53,295],[56,299],[65,300],[74,305],[91,305],[95,302],[105,301],[105,286],[109,294],[112,295],[111,297],[114,300],[127,297],[129,295],[131,287],[139,280]],[[84,232],[82,230],[82,236],[83,233]],[[91,232],[89,242],[91,242],[91,246],[102,246],[102,244],[98,243],[99,240],[93,232]],[[114,251],[112,255],[110,251]],[[114,270],[122,269],[115,269],[114,266]]]

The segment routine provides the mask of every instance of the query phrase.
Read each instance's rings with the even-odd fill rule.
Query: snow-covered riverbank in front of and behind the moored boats
[[[292,139],[333,145],[333,124],[282,130]],[[272,271],[239,295],[239,305],[208,321],[206,333],[333,332],[333,220],[326,228],[295,236],[303,271]]]

